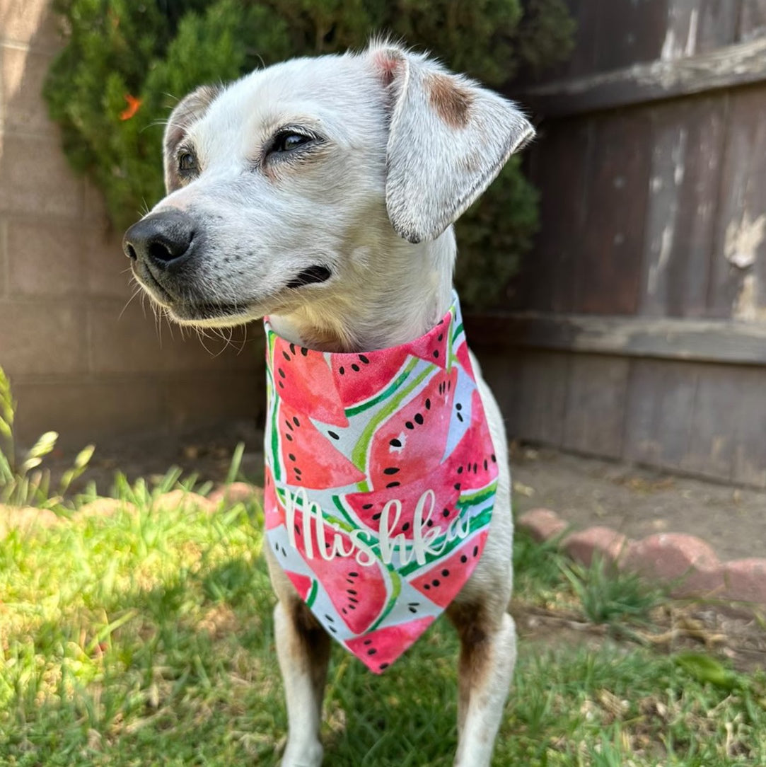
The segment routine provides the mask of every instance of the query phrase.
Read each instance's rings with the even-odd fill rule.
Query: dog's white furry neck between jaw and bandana
[[[321,351],[373,351],[425,334],[452,301],[455,236],[452,227],[432,242],[401,239],[380,249],[358,249],[350,259],[356,279],[341,295],[328,291],[297,311],[271,314],[281,337]]]

